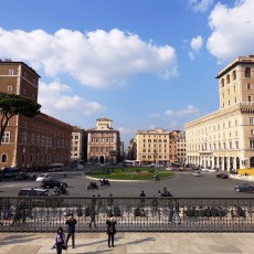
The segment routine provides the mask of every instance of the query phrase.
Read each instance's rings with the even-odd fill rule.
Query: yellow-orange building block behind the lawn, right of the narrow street
[[[180,140],[182,141],[182,137],[184,137],[184,134],[180,130],[170,131],[156,128],[137,131],[137,160],[144,163],[168,163],[179,161],[178,149],[180,148],[178,148],[178,146],[180,147],[180,145],[178,145],[178,142]]]

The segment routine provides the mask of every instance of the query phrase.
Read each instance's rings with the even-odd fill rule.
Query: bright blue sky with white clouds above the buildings
[[[218,110],[215,76],[254,54],[253,0],[0,3],[0,59],[41,76],[42,112],[84,129],[110,118],[125,147]]]

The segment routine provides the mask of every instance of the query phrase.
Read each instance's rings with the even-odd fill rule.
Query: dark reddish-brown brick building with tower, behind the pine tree
[[[39,78],[23,62],[0,62],[0,92],[38,102]],[[68,163],[72,126],[45,114],[10,119],[0,146],[0,167],[34,168]]]

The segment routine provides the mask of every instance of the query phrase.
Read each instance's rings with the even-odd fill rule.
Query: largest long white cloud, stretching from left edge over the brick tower
[[[142,73],[166,80],[178,75],[172,46],[155,45],[118,29],[87,33],[61,29],[49,34],[0,28],[0,38],[1,57],[27,62],[52,77],[67,73],[95,88],[123,86]]]

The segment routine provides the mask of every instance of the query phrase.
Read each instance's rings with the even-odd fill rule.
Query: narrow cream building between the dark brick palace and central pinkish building
[[[87,160],[87,133],[78,126],[74,126],[72,131],[71,160]]]

